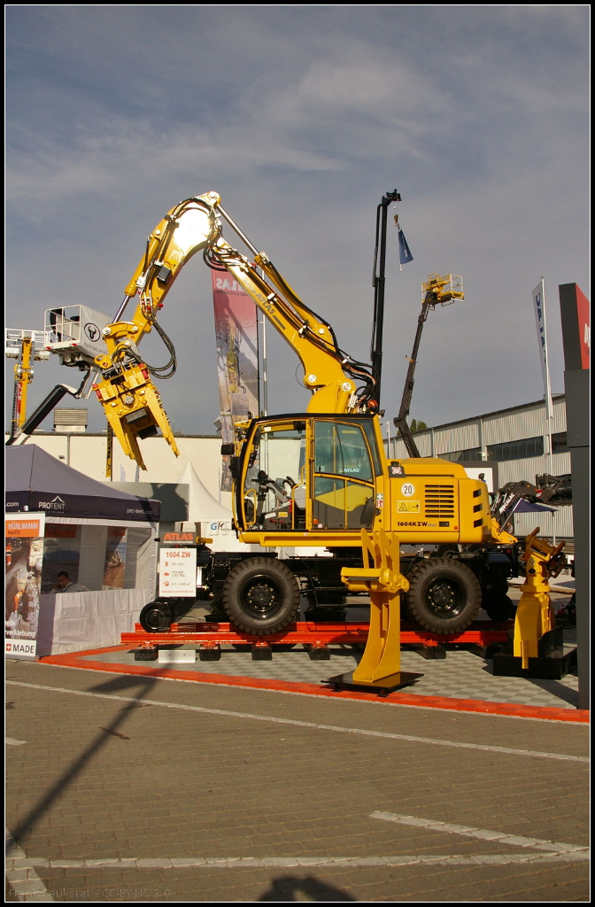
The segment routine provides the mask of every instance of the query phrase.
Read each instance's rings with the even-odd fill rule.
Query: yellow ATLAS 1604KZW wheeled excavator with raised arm
[[[396,191],[387,193],[383,204],[397,200]],[[224,220],[250,257],[223,238]],[[122,449],[141,469],[139,440],[160,430],[179,454],[151,375],[166,377],[175,369],[175,351],[158,313],[180,269],[199,251],[210,268],[227,270],[238,281],[293,348],[311,392],[305,413],[253,414],[235,424],[233,444],[222,445],[221,453],[230,457],[239,538],[270,549],[317,545],[337,555],[342,588],[369,593],[372,605],[366,653],[354,680],[398,679],[402,593],[409,595],[410,610],[412,593],[413,600],[430,600],[429,629],[444,633],[468,626],[481,603],[473,571],[455,559],[444,559],[437,579],[422,559],[408,579],[401,571],[401,545],[461,549],[516,540],[493,520],[486,484],[468,478],[460,463],[386,457],[378,415],[381,350],[373,349],[372,366],[348,356],[333,328],[298,297],[266,252],[258,251],[214,191],[181,201],[161,219],[116,317],[93,325],[101,329],[106,346],[94,356],[99,377],[93,390]],[[463,297],[462,281],[431,275],[424,293],[425,304],[444,304]],[[132,300],[134,311],[125,317]],[[148,366],[140,352],[142,337],[153,328],[171,353],[161,369]],[[381,337],[381,324],[376,331]],[[80,354],[69,355],[76,360]],[[70,364],[82,367],[83,360],[74,360]],[[295,618],[301,590],[297,573],[273,556],[247,553],[228,568],[222,608],[239,629],[274,633]],[[167,613],[165,619],[159,609],[155,614],[153,629],[160,629]]]

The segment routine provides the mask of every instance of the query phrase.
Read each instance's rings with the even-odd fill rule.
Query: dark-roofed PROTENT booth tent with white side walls
[[[34,444],[8,447],[6,646],[26,640],[35,657],[117,645],[154,594],[160,506]]]

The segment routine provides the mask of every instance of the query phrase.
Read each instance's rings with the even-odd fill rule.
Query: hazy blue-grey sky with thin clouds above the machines
[[[6,326],[84,304],[113,317],[147,234],[216,190],[340,346],[369,360],[376,206],[389,221],[385,418],[397,413],[428,274],[465,298],[430,313],[414,418],[444,424],[543,395],[532,289],[545,280],[552,391],[559,284],[589,287],[587,5],[7,5]],[[231,244],[236,238],[225,232]],[[161,313],[174,429],[219,414],[210,273]],[[168,355],[143,342],[155,365]],[[5,419],[12,403],[6,360]],[[298,360],[268,330],[268,411],[303,411]],[[28,412],[78,373],[35,366]],[[71,405],[67,397],[62,405]],[[89,407],[90,430],[104,427]],[[43,426],[51,430],[48,417]]]

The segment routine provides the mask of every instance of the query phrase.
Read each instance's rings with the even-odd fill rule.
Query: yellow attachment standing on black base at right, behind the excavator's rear
[[[523,561],[527,562],[526,579],[514,619],[513,654],[522,658],[522,668],[529,668],[529,658],[539,655],[539,640],[556,626],[550,599],[548,579],[561,571],[565,542],[554,547],[537,538],[539,527],[525,539]],[[563,558],[563,561],[561,560]]]

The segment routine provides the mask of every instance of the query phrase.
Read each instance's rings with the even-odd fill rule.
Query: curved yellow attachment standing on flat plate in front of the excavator
[[[366,650],[353,673],[354,682],[373,683],[401,670],[399,594],[409,589],[400,571],[400,543],[395,535],[362,530],[364,567],[344,567],[341,580],[349,590],[370,593],[370,629]],[[374,567],[369,566],[372,555]]]

